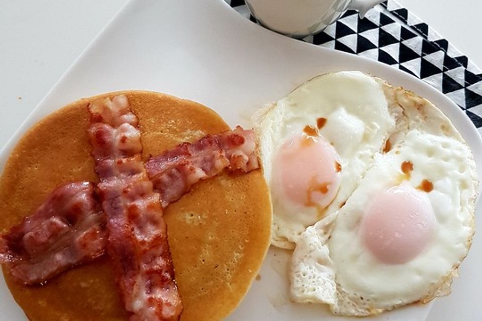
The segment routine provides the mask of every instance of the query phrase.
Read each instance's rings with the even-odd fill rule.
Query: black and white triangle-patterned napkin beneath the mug
[[[225,1],[256,22],[244,0]],[[422,79],[459,105],[482,134],[482,71],[396,1],[376,6],[365,19],[349,10],[303,41],[378,60]]]

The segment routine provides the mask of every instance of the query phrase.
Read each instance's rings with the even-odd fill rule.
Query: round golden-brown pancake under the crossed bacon
[[[169,95],[126,91],[76,101],[39,121],[12,151],[0,180],[0,230],[32,214],[58,185],[97,182],[86,129],[87,103],[126,94],[139,117],[143,158],[183,141],[229,129],[211,109]],[[181,293],[183,321],[217,320],[242,300],[270,243],[271,203],[261,170],[202,181],[165,209]],[[73,268],[44,286],[15,283],[15,300],[32,321],[125,321],[107,256]]]

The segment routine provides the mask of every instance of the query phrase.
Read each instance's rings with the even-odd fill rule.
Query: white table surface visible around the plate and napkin
[[[482,67],[482,1],[398,1]],[[0,0],[0,146],[124,3]],[[480,319],[482,273],[467,279],[464,269],[462,264],[462,278],[450,296],[436,300],[428,321]]]

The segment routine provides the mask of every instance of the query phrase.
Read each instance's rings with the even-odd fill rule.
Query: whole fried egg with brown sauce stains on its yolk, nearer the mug
[[[399,108],[356,71],[311,79],[256,116],[273,203],[272,244],[293,248],[305,229],[338,210],[384,147]]]

